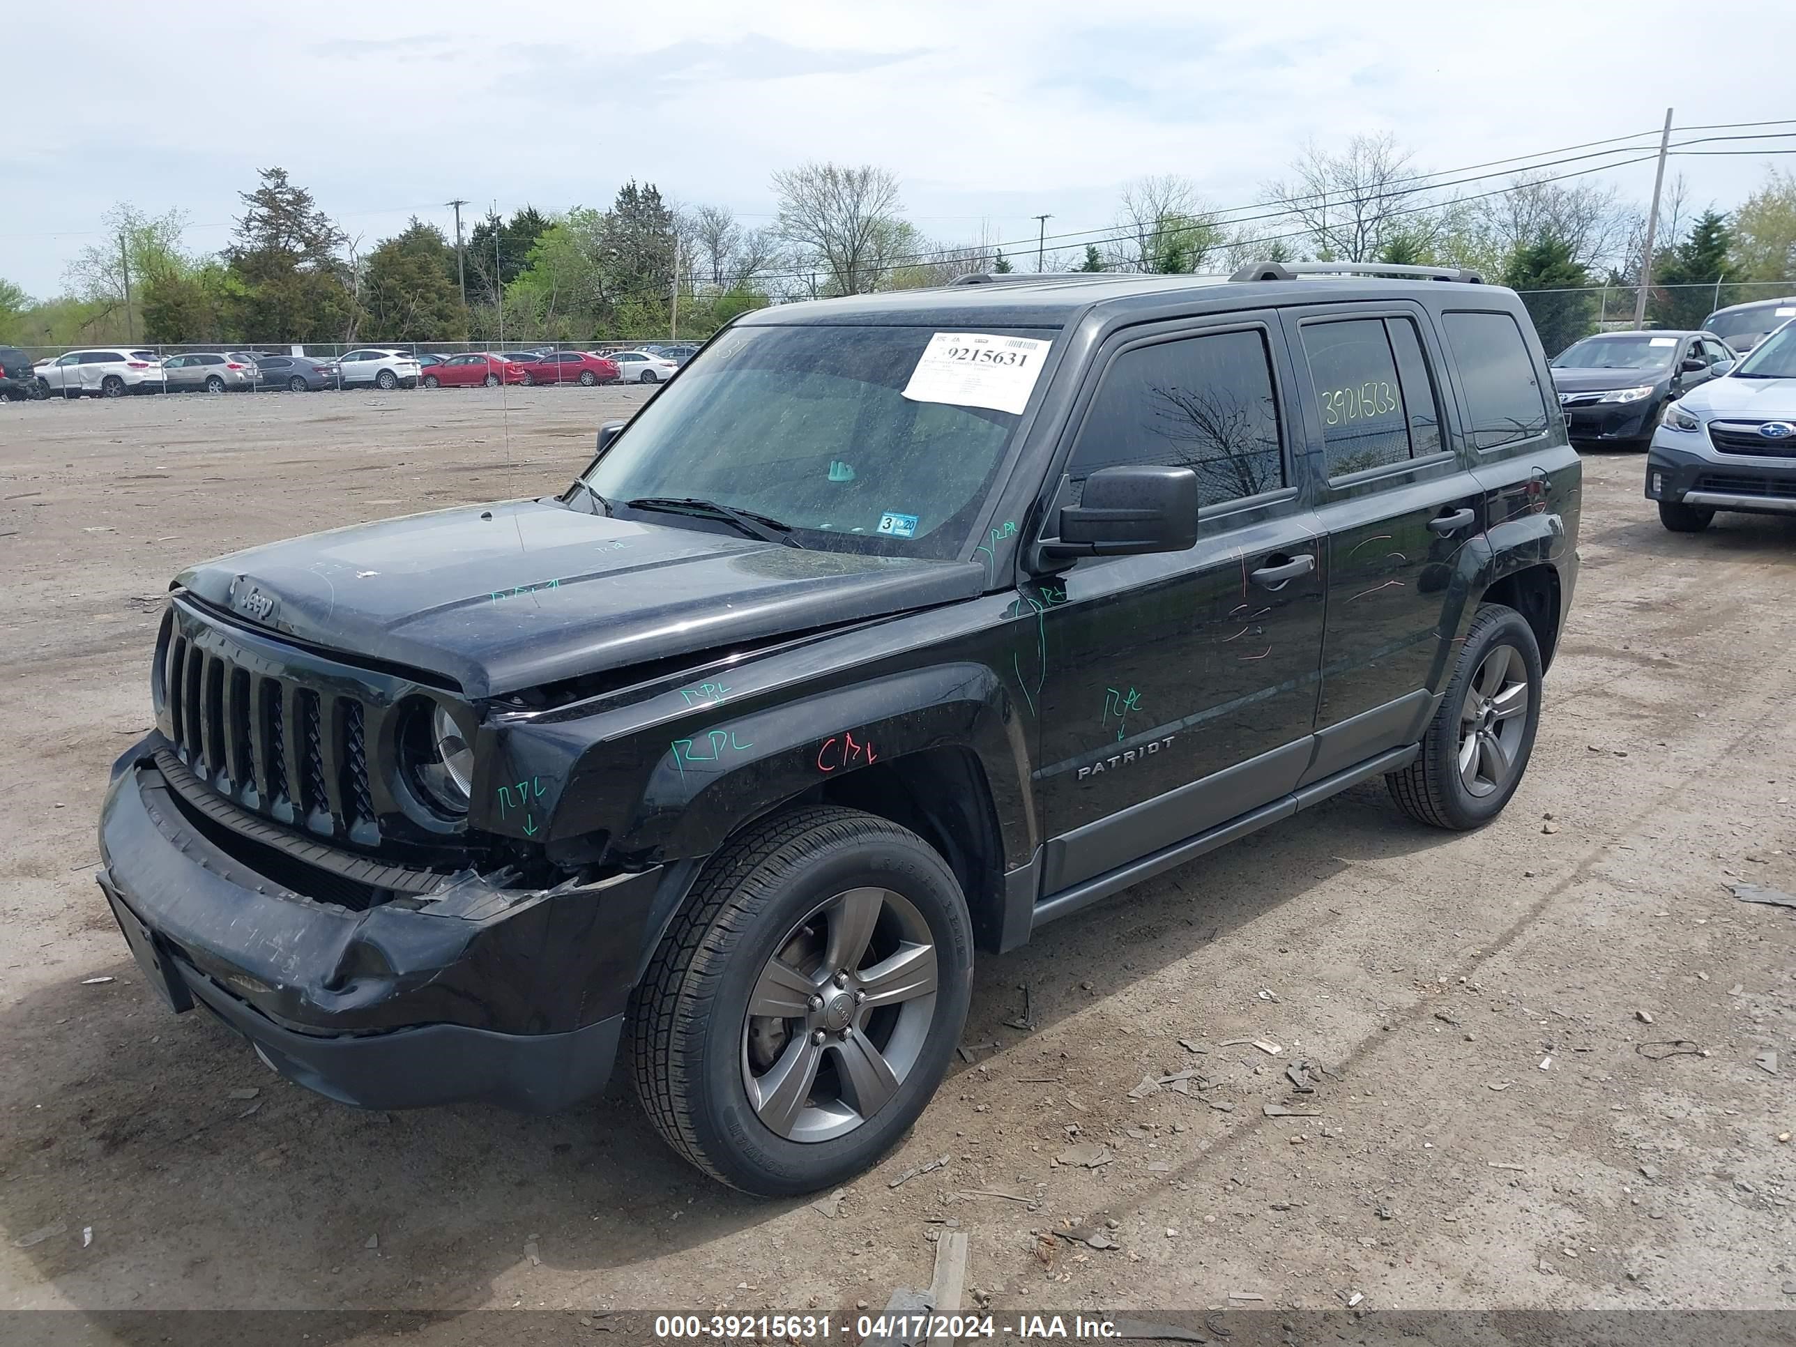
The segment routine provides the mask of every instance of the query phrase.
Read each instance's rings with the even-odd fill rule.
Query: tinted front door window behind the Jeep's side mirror
[[[1212,332],[1117,356],[1072,445],[1072,501],[1092,472],[1133,463],[1189,467],[1200,505],[1281,489],[1284,453],[1264,334]]]

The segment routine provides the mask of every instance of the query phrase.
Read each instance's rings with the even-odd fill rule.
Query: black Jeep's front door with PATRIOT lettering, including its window
[[[1189,467],[1198,542],[1020,591],[1036,609],[1017,677],[1042,727],[1043,894],[1288,794],[1322,656],[1327,557],[1275,318],[1121,338],[1097,365],[1054,508],[1103,467]]]

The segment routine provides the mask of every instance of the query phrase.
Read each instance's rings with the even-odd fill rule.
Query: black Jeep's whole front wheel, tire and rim
[[[973,943],[923,839],[846,808],[718,851],[630,999],[636,1092],[731,1187],[842,1184],[916,1122],[966,1022]]]

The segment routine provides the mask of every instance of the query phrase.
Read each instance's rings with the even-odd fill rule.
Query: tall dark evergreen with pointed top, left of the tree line
[[[233,323],[248,341],[330,341],[354,318],[338,250],[343,230],[295,187],[286,169],[260,169],[224,257],[241,287]]]

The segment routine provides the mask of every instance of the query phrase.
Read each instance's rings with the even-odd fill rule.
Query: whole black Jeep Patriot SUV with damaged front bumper
[[[1580,471],[1466,273],[975,277],[742,316],[560,496],[172,585],[101,885],[174,1009],[374,1108],[596,1092],[799,1193],[973,950],[1383,776],[1514,794]]]

